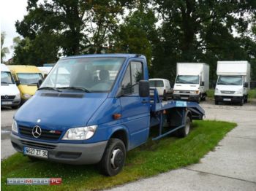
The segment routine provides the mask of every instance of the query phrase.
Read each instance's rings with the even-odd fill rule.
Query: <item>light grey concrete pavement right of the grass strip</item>
[[[256,104],[201,104],[206,119],[238,123],[200,163],[112,190],[256,190]]]

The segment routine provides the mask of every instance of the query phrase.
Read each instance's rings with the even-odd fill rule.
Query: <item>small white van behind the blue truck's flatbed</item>
[[[172,98],[173,90],[172,87],[170,87],[170,81],[168,79],[151,78],[149,79],[149,86],[156,88],[158,95],[164,100]]]

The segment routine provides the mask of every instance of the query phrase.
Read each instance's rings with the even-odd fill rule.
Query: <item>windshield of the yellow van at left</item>
[[[17,75],[21,85],[37,84],[39,79],[42,79],[40,73],[18,73]]]

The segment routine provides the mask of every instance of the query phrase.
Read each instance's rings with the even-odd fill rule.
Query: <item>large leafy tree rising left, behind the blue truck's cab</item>
[[[17,21],[15,26],[21,36],[29,39],[32,49],[37,50],[42,61],[45,52],[50,58],[58,57],[58,52],[61,55],[102,52],[108,47],[109,34],[116,31],[118,15],[122,15],[126,4],[131,2],[53,0],[39,3],[38,0],[29,0],[28,15]],[[16,51],[17,57],[18,54]]]

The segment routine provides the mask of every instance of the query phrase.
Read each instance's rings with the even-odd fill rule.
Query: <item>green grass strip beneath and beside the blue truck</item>
[[[97,165],[64,165],[46,161],[31,162],[17,153],[1,162],[2,190],[102,190],[116,185],[143,179],[148,176],[198,163],[213,150],[235,123],[196,121],[189,136],[178,139],[169,136],[159,141],[148,141],[127,153],[126,165],[121,174],[102,176]],[[61,177],[62,184],[55,186],[7,186],[7,178]]]

